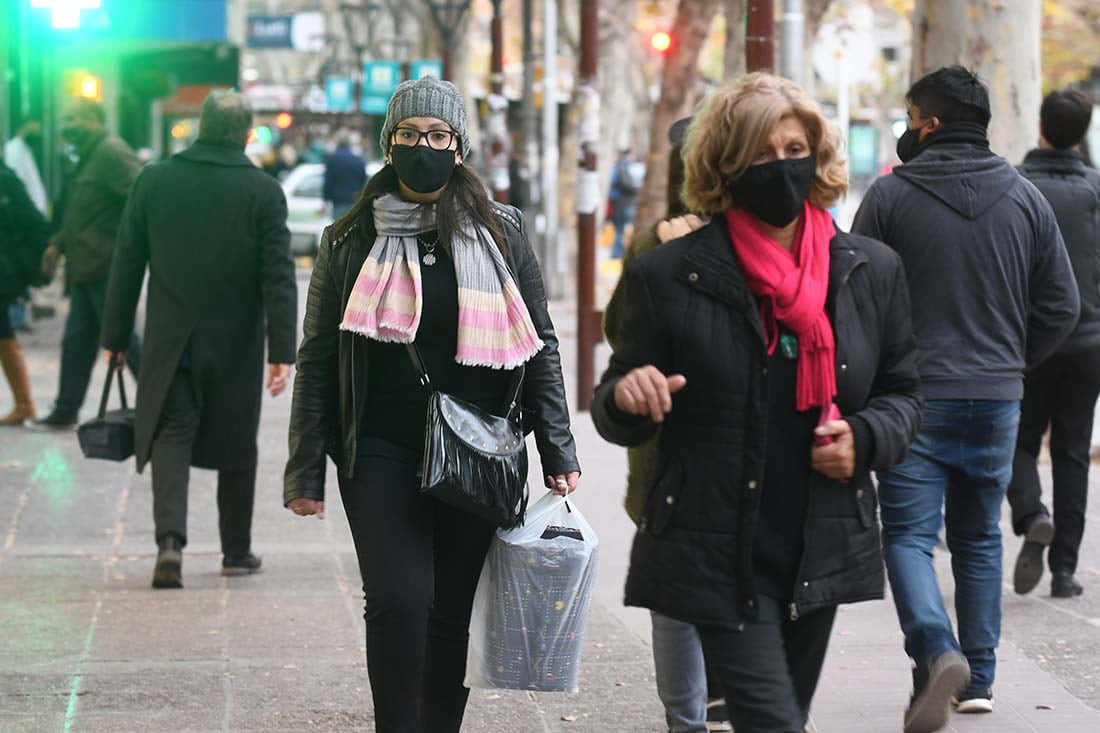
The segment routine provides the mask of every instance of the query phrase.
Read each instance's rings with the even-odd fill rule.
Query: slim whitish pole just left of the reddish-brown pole
[[[542,3],[542,218],[547,296],[558,292],[558,0]]]

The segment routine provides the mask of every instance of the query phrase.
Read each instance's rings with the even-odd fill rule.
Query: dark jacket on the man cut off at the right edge
[[[1074,267],[1081,316],[1057,353],[1100,346],[1100,171],[1072,150],[1033,150],[1020,173],[1050,201]]]

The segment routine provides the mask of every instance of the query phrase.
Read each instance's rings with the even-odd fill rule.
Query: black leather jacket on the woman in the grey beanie
[[[543,474],[579,471],[558,337],[547,310],[542,273],[527,239],[522,216],[509,206],[493,206],[507,238],[508,266],[539,338],[546,343],[527,364],[520,393],[524,425],[535,433]],[[366,405],[366,339],[341,331],[339,326],[372,243],[360,227],[352,227],[336,241],[330,240],[326,230],[321,239],[309,281],[298,350],[284,504],[299,497],[324,499],[326,456],[337,464],[341,478],[354,473],[360,423]]]

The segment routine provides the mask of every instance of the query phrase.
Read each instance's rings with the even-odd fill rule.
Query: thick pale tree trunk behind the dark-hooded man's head
[[[952,64],[974,69],[989,87],[990,144],[1013,163],[1038,134],[1041,26],[1040,2],[917,0],[913,10],[913,80]]]

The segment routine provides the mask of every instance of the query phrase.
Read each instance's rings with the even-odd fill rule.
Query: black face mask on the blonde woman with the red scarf
[[[813,155],[752,165],[729,185],[729,189],[749,214],[782,228],[802,214],[816,168]]]

